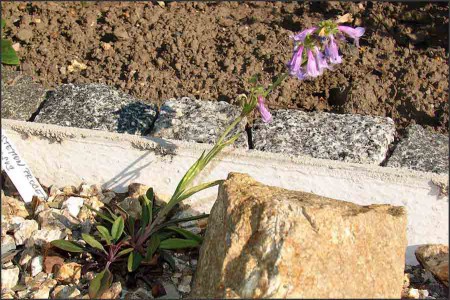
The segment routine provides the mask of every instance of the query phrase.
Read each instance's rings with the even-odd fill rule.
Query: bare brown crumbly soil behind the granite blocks
[[[361,48],[314,81],[288,79],[270,106],[389,116],[448,132],[447,3],[2,3],[21,69],[48,87],[103,82],[147,101],[233,102],[285,68],[289,35],[350,12]],[[39,22],[40,21],[40,22]],[[70,73],[71,61],[87,69]]]

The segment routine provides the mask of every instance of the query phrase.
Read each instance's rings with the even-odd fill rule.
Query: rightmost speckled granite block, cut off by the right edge
[[[410,125],[387,161],[388,167],[448,173],[448,136]]]

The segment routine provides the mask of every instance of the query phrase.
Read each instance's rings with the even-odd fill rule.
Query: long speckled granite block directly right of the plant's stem
[[[255,122],[255,149],[378,165],[394,141],[390,118],[284,109],[272,116],[269,124]]]

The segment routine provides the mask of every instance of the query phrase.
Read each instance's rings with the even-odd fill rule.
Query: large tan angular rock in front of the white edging
[[[219,189],[192,298],[400,298],[406,212],[265,186]]]

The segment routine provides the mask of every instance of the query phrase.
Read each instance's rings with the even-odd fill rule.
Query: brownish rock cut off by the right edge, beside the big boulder
[[[433,244],[416,249],[416,258],[425,270],[448,286],[448,246]]]

